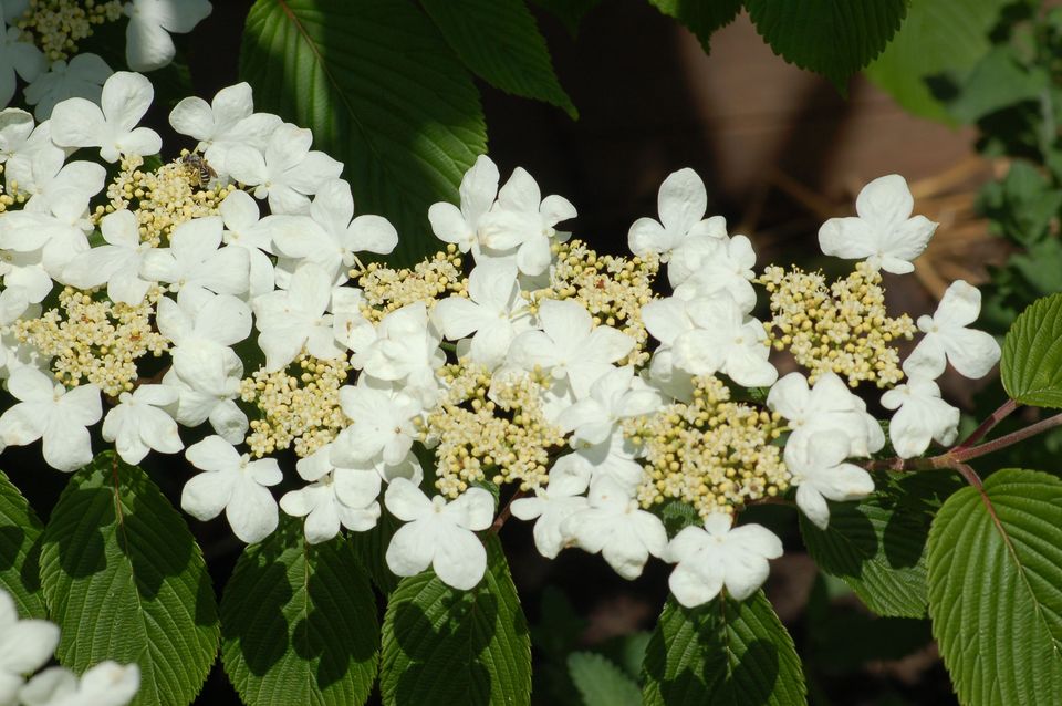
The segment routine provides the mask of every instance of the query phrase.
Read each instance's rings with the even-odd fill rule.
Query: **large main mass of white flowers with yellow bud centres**
[[[431,567],[470,589],[487,561],[477,532],[511,512],[546,557],[580,547],[626,578],[657,557],[677,564],[686,605],[723,586],[743,598],[781,553],[737,525],[745,507],[792,494],[826,527],[826,500],[874,488],[852,460],[885,436],[850,384],[886,388],[893,445],[918,455],[955,437],[934,383],[946,364],[978,376],[999,356],[967,328],[977,290],[956,282],[918,320],[897,384],[896,341],[914,326],[885,312],[878,270],[909,270],[933,233],[897,176],[866,187],[860,217],[823,226],[825,251],[865,258],[831,288],[798,270],[758,278],[750,240],[705,217],[690,169],[664,181],[625,258],[570,240],[572,204],[520,168],[502,183],[485,156],[459,204],[428,211],[444,249],[396,270],[361,259],[391,252],[396,229],[356,214],[343,165],[254,112],[249,86],[179,103],[170,124],[198,144],[155,168],[162,141],[137,126],[152,97],[119,72],[98,106],[70,98],[41,124],[0,113],[17,195],[0,215],[0,377],[17,399],[0,445],[42,439],[46,463],[74,470],[103,419],[127,463],[184,450],[202,471],[184,509],[223,513],[247,542],[279,511],[321,542],[386,508],[404,522],[386,551],[396,574]],[[93,153],[117,164],[110,179],[76,158]],[[772,343],[806,376],[779,378]],[[185,449],[179,426],[204,424],[212,434]],[[289,448],[304,485],[278,501]],[[497,520],[496,497],[509,502]],[[673,505],[699,523],[669,538]]]

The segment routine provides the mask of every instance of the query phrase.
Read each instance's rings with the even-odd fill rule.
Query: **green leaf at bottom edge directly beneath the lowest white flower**
[[[668,599],[643,675],[647,706],[806,703],[793,640],[762,591],[696,609]]]

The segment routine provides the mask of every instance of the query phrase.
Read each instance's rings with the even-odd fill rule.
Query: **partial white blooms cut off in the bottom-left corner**
[[[44,620],[19,620],[14,601],[0,591],[0,706],[123,706],[140,687],[136,664],[101,662],[81,676],[44,666],[59,645],[59,627]]]

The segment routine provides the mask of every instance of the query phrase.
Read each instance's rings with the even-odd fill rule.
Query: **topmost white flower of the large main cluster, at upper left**
[[[152,82],[137,73],[119,71],[103,84],[100,105],[67,98],[52,111],[52,139],[60,147],[100,147],[106,162],[122,155],[154,155],[163,138],[154,129],[137,127],[155,97]]]

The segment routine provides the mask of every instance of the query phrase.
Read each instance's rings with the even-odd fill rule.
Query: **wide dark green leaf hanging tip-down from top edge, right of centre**
[[[745,7],[775,54],[825,76],[841,93],[907,13],[906,0],[745,0]]]

